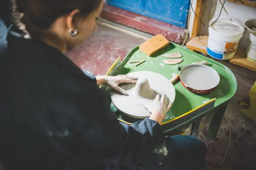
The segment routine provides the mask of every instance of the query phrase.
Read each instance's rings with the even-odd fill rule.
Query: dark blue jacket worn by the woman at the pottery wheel
[[[12,27],[0,44],[0,160],[6,170],[137,167],[162,138],[150,119],[120,123],[96,79]]]

